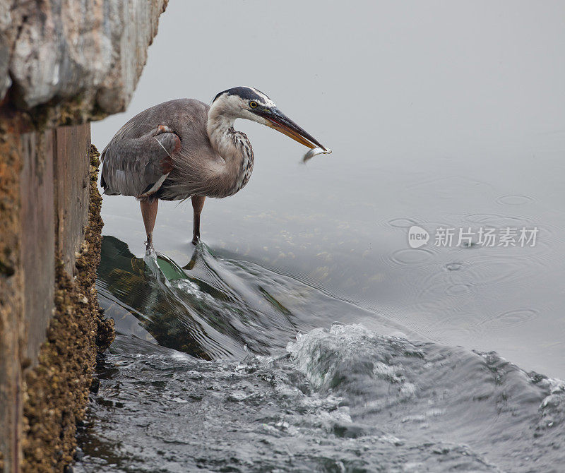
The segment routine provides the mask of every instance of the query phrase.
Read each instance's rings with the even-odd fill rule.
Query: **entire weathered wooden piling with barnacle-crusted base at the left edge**
[[[0,472],[63,471],[113,325],[90,123],[125,109],[167,0],[0,0]]]

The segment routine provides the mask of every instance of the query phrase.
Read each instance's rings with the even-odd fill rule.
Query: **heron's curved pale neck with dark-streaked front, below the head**
[[[223,113],[222,113],[223,112]],[[230,193],[239,191],[251,176],[254,164],[253,148],[245,133],[234,129],[237,116],[225,113],[221,107],[213,104],[208,111],[206,131],[210,144],[225,160],[220,179],[226,181],[225,186],[230,186]]]

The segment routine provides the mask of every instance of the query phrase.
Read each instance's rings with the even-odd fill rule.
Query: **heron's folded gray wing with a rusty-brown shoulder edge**
[[[172,154],[180,138],[168,126],[157,126],[131,138],[118,132],[102,152],[100,184],[109,195],[148,197],[174,169]]]

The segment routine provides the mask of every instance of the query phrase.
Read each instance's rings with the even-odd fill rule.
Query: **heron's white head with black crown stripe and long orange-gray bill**
[[[252,87],[234,87],[220,92],[214,97],[210,112],[212,109],[229,119],[253,120],[275,128],[308,148],[320,147],[326,150],[316,138],[280,112],[266,94]]]

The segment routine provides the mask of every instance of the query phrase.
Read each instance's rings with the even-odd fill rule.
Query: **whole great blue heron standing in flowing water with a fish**
[[[193,99],[150,107],[122,126],[102,151],[104,193],[138,198],[148,251],[153,249],[159,199],[191,198],[196,244],[204,199],[232,196],[247,184],[254,155],[245,133],[234,130],[238,118],[326,150],[263,92],[236,87],[216,95],[210,107]]]

